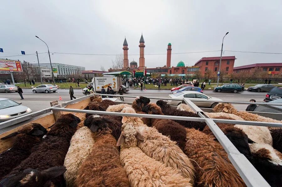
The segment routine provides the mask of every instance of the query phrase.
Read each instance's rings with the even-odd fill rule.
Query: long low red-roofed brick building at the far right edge
[[[257,63],[233,68],[233,73],[250,72],[254,68],[260,68],[262,71],[268,71],[269,75],[282,74],[282,63]]]

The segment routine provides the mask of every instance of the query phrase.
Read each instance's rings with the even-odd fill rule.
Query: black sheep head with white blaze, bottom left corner
[[[15,175],[10,175],[0,181],[0,186],[29,186],[29,187],[51,187],[54,184],[50,181],[63,173],[65,166],[55,166],[47,170],[25,169]]]

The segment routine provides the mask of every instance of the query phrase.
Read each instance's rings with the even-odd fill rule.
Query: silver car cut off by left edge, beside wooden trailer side
[[[11,99],[0,98],[0,121],[11,120],[32,112],[29,107],[21,104]]]

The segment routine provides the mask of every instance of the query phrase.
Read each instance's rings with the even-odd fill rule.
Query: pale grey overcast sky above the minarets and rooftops
[[[139,40],[143,32],[145,66],[166,64],[167,44],[172,53],[221,50],[282,52],[282,1],[2,1],[0,57],[47,52],[120,54],[128,42],[128,59],[139,64]],[[165,53],[165,55],[149,55]],[[147,54],[147,55],[146,55]],[[194,65],[201,57],[219,52],[172,54],[171,66],[182,60]],[[227,52],[235,66],[282,62],[282,54]],[[6,58],[6,57],[5,57]],[[37,63],[35,55],[7,57]],[[51,54],[53,63],[107,70],[115,56]],[[48,54],[39,54],[49,63]]]

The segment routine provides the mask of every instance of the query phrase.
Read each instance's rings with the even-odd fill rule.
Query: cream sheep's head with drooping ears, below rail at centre
[[[144,140],[143,136],[130,123],[125,123],[121,127],[121,134],[118,138],[117,146],[123,145],[125,147],[137,146],[138,140]]]

